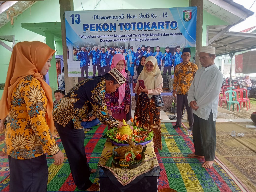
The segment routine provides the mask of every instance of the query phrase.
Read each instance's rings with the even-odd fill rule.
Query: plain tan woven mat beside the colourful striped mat
[[[184,123],[189,126],[188,123]],[[216,123],[215,156],[231,174],[240,180],[248,191],[256,191],[256,130],[246,128],[253,122]],[[244,133],[243,137],[232,137],[232,131]]]

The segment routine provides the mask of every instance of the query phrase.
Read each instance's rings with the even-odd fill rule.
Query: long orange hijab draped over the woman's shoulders
[[[53,56],[54,53],[55,50],[39,41],[19,42],[13,47],[4,92],[0,102],[0,119],[4,119],[9,113],[11,94],[15,86],[20,79],[27,75],[31,75],[40,81],[41,86],[45,91],[48,99],[46,120],[51,132],[54,131],[54,121],[51,115],[53,108],[52,91],[50,86],[44,81],[43,76],[39,73],[46,61],[50,56]]]

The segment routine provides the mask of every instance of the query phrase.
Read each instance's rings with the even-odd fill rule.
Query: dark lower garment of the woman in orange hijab
[[[46,192],[48,166],[46,155],[32,159],[14,159],[8,155],[10,192]]]

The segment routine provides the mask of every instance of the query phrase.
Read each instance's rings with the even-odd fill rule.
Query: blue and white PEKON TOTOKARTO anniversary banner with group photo
[[[133,76],[142,56],[154,56],[162,72],[163,92],[185,47],[195,60],[196,7],[66,11],[68,76],[93,78],[110,70],[123,54]]]

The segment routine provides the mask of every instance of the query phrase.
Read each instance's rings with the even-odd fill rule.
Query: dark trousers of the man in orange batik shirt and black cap
[[[191,107],[188,106],[188,95],[182,95],[182,94],[177,95],[176,125],[179,127],[181,126],[181,118],[182,118],[182,112],[183,112],[184,106],[186,106],[186,109],[187,109],[189,129],[193,130],[194,117],[193,117],[193,110],[191,109]]]

